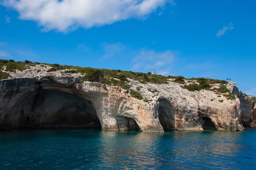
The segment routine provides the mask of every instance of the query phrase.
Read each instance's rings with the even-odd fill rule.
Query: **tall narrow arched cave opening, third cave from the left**
[[[162,99],[159,101],[158,117],[164,131],[175,130],[175,110],[171,104]]]

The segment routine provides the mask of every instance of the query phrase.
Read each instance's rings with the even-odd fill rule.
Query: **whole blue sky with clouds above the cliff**
[[[0,58],[231,78],[256,96],[256,1],[0,0]]]

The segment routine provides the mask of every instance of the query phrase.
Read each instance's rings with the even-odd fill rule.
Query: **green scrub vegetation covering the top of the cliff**
[[[121,70],[108,70],[108,69],[98,69],[90,67],[77,67],[72,65],[59,65],[59,64],[47,64],[40,62],[31,62],[25,60],[24,62],[15,62],[14,60],[5,60],[0,59],[0,79],[7,79],[11,77],[9,72],[23,71],[30,69],[32,66],[40,65],[43,68],[49,69],[47,72],[61,71],[62,74],[77,74],[80,73],[83,75],[83,81],[90,82],[100,82],[106,85],[117,85],[129,91],[130,86],[127,84],[129,79],[136,80],[140,83],[154,83],[154,84],[167,84],[169,82],[177,82],[179,84],[184,84],[183,88],[188,89],[189,91],[200,91],[201,89],[216,91],[219,93],[229,92],[227,87],[224,84],[227,84],[227,81],[218,80],[218,79],[205,79],[205,78],[185,78],[182,76],[162,76],[162,75],[153,75],[150,72],[140,73],[133,71],[121,71]],[[186,85],[185,85],[186,84]],[[211,88],[213,84],[221,84],[220,88]],[[134,94],[135,95],[135,94]],[[136,96],[136,95],[135,95]],[[227,97],[233,96],[228,95]],[[138,97],[140,98],[140,97]]]

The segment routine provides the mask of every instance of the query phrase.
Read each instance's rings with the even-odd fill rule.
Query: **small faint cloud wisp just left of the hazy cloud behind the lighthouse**
[[[109,59],[115,56],[116,54],[119,54],[125,51],[126,49],[126,46],[120,42],[116,42],[116,43],[103,42],[102,46],[105,54],[101,57],[101,59]]]

